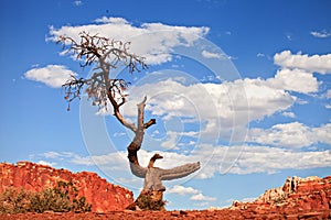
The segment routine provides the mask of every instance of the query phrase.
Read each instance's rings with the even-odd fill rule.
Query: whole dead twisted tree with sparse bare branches
[[[200,163],[185,164],[170,169],[162,169],[153,166],[156,160],[162,158],[154,154],[148,167],[139,164],[138,151],[141,147],[145,132],[148,128],[156,124],[156,119],[145,120],[145,107],[147,97],[137,105],[137,124],[129,122],[120,112],[120,107],[126,103],[126,88],[129,82],[125,79],[110,78],[110,70],[119,65],[125,65],[129,73],[141,72],[147,68],[145,58],[129,52],[130,42],[110,41],[98,34],[79,33],[78,41],[68,36],[58,36],[57,43],[63,45],[63,50],[82,61],[81,66],[96,64],[93,75],[89,78],[72,78],[63,85],[65,99],[70,103],[76,98],[81,98],[82,90],[85,88],[92,105],[99,108],[107,108],[108,103],[113,107],[114,116],[127,129],[135,133],[134,140],[127,147],[130,169],[134,175],[145,178],[141,194],[128,208],[135,209],[163,209],[163,191],[166,187],[161,180],[177,179],[192,174],[200,168]]]

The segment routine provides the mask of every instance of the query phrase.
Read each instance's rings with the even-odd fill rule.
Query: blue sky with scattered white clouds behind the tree
[[[82,31],[131,42],[149,66],[111,76],[131,85],[124,116],[147,96],[156,118],[139,151],[147,166],[201,162],[164,182],[167,209],[250,201],[288,176],[331,174],[331,2],[322,0],[30,0],[0,2],[0,161],[96,172],[132,190],[132,133],[83,95],[67,111],[61,85],[93,66],[63,53]]]

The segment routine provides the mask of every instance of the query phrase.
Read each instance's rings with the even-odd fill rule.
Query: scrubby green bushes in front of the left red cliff
[[[92,205],[85,197],[78,198],[78,190],[71,182],[58,182],[54,188],[39,193],[8,188],[0,195],[0,213],[24,213],[44,211],[88,212]]]

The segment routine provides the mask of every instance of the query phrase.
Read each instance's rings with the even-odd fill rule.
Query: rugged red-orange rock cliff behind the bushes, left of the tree
[[[86,197],[86,201],[92,204],[92,211],[95,212],[124,210],[134,202],[131,191],[107,183],[95,173],[74,174],[67,169],[55,169],[30,162],[19,162],[17,165],[0,164],[0,194],[8,187],[41,191],[56,187],[60,180],[72,182],[78,189],[78,196]]]

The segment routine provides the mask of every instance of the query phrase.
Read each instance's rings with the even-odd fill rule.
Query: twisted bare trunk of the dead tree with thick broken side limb
[[[145,131],[152,124],[156,124],[154,119],[150,119],[145,123],[143,112],[147,98],[145,97],[143,100],[137,105],[137,125],[125,120],[119,111],[119,107],[121,105],[117,105],[115,98],[110,96],[110,94],[108,95],[108,98],[114,107],[114,114],[117,120],[126,128],[135,132],[135,138],[127,147],[128,160],[130,163],[131,173],[137,177],[145,178],[142,191],[136,201],[128,206],[127,209],[164,210],[166,202],[163,201],[163,191],[166,191],[166,187],[162,185],[161,180],[171,180],[188,176],[200,168],[200,163],[184,164],[174,168],[162,169],[153,166],[156,160],[163,158],[161,155],[156,154],[151,157],[148,167],[142,167],[139,164],[138,151],[140,150],[143,141]]]

